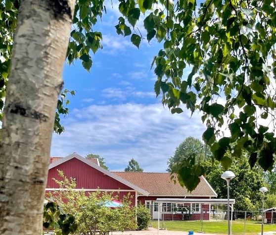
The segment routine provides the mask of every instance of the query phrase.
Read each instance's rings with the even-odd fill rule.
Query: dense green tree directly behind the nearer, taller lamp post
[[[206,170],[206,179],[218,194],[218,198],[227,198],[227,183],[221,178],[225,169],[215,161],[202,164]],[[233,160],[229,168],[235,174],[230,181],[230,198],[235,199],[234,209],[240,211],[258,210],[261,206],[260,187],[265,186],[262,171],[257,167],[250,168],[248,158]]]

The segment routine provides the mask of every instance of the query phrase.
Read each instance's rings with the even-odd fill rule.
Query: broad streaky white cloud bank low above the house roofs
[[[171,115],[160,103],[92,105],[73,110],[64,125],[64,133],[53,135],[52,156],[95,153],[110,170],[124,170],[134,158],[146,172],[164,172],[184,138],[201,138],[205,129],[198,115]]]

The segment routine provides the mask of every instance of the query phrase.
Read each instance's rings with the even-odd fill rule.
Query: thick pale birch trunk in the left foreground
[[[21,0],[0,144],[0,234],[39,235],[75,0]]]

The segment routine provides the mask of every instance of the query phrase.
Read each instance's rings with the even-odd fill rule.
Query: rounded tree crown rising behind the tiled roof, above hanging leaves
[[[188,136],[185,140],[176,148],[174,156],[170,157],[167,165],[167,172],[172,172],[172,167],[176,163],[180,163],[182,160],[187,159],[190,156],[195,157],[195,161],[199,163],[204,161],[205,158],[209,159],[212,156],[209,146],[206,147],[199,139],[192,136]]]

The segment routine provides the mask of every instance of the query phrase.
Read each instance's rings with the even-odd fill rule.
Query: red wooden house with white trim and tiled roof
[[[140,201],[146,207],[152,208],[152,219],[158,218],[156,198],[209,199],[217,196],[203,176],[200,177],[200,183],[196,189],[188,192],[178,182],[171,181],[169,173],[109,172],[99,166],[97,159],[86,159],[76,153],[64,158],[51,158],[50,161],[46,193],[58,188],[52,178],[60,179],[57,170],[61,170],[68,178],[75,178],[76,190],[115,192],[118,193],[119,200],[130,192],[133,195],[133,205],[137,205]],[[190,218],[192,220],[198,220],[202,210],[210,210],[209,205],[203,204],[166,203],[159,208],[161,209],[159,210],[160,218],[164,216],[164,219],[171,219],[173,215],[175,219],[178,216],[181,217],[173,209],[181,206],[192,208],[193,215]],[[209,214],[204,215],[203,219],[209,219]]]

